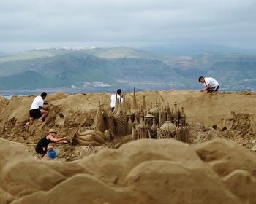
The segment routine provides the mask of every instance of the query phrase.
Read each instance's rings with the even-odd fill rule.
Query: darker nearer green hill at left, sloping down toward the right
[[[140,58],[104,59],[84,52],[69,52],[47,58],[15,60],[0,64],[0,85],[5,89],[24,89],[31,74],[42,76],[45,87],[83,87],[85,82],[104,82],[113,86],[140,88],[184,86],[184,79],[175,70],[159,60]],[[7,83],[7,80],[17,83]],[[31,81],[31,80],[30,80]],[[18,83],[20,82],[20,83]],[[38,85],[39,84],[39,85]],[[36,80],[31,87],[44,87]]]

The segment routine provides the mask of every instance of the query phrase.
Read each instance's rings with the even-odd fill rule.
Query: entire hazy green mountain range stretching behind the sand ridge
[[[94,86],[131,89],[200,89],[199,76],[212,76],[222,90],[253,90],[256,55],[203,52],[165,55],[132,47],[40,48],[1,53],[0,89]],[[93,82],[91,84],[91,82]]]

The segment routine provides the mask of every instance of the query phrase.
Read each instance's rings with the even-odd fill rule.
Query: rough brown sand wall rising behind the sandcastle
[[[234,120],[241,125],[247,122],[245,129],[255,131],[256,93],[215,93],[207,94],[195,91],[147,91],[136,94],[138,104],[143,103],[146,96],[146,105],[149,109],[151,103],[172,105],[175,101],[178,107],[184,106],[187,122],[195,124],[200,122],[206,127],[217,125],[219,130],[223,127],[232,128]],[[72,136],[78,129],[83,130],[93,122],[98,102],[102,107],[109,109],[109,93],[87,93],[68,95],[54,93],[48,95],[45,101],[50,102],[49,115],[43,124],[35,121],[28,130],[21,127],[29,118],[29,107],[34,95],[12,97],[7,100],[0,98],[0,134],[1,137],[13,141],[33,143],[47,133],[50,127],[59,129],[60,136]],[[126,95],[127,103],[132,103],[132,93]],[[60,117],[62,113],[64,117]],[[240,121],[241,119],[243,121]],[[236,125],[236,124],[235,124]]]

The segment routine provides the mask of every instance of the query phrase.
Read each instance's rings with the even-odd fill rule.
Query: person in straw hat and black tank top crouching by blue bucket
[[[48,132],[47,136],[43,136],[38,142],[37,142],[37,146],[35,148],[37,154],[39,154],[39,158],[42,158],[45,156],[46,152],[49,149],[53,149],[52,145],[48,145],[50,144],[50,142],[56,143],[56,144],[67,144],[68,141],[66,141],[66,137],[64,138],[55,138],[57,135],[57,131],[54,129],[50,129]]]

